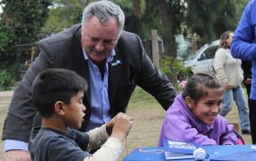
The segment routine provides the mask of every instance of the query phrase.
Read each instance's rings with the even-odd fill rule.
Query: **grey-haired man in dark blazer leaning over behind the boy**
[[[141,39],[123,30],[125,15],[110,1],[85,7],[82,23],[40,40],[39,56],[15,89],[4,122],[2,140],[6,160],[30,160],[28,142],[32,127],[41,124],[31,101],[31,84],[49,68],[74,71],[89,84],[84,94],[86,117],[79,131],[90,131],[127,111],[134,89],[141,87],[166,110],[176,90],[146,55]]]

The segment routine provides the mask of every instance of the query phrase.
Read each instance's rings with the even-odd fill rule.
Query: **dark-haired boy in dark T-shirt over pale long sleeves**
[[[42,116],[42,127],[34,128],[31,134],[33,160],[118,159],[132,118],[119,113],[100,128],[88,132],[74,130],[84,121],[83,97],[87,89],[82,77],[64,69],[49,69],[36,77],[32,101]],[[86,152],[93,148],[100,149],[93,155]]]

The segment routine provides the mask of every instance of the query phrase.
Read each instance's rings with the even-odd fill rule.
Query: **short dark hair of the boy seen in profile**
[[[86,91],[86,81],[77,73],[65,69],[48,69],[36,77],[32,84],[32,101],[42,117],[54,114],[57,101],[70,104],[71,97]]]

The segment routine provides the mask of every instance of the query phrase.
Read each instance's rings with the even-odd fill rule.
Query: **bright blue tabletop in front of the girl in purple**
[[[237,161],[256,161],[256,145],[223,145],[223,146],[203,146],[207,151],[209,160],[237,160]],[[142,161],[142,160],[165,160],[163,148],[142,147],[134,149],[123,161]],[[195,159],[182,159],[192,161]]]

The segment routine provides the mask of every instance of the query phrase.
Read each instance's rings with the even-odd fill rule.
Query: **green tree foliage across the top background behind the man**
[[[81,21],[84,7],[96,0],[0,0],[0,68],[16,79],[19,71],[17,45],[35,43]],[[174,35],[197,33],[201,44],[235,30],[248,0],[112,0],[126,14],[125,30],[142,39],[157,30],[163,39],[164,55],[176,57]],[[213,7],[214,6],[214,7]],[[18,51],[20,52],[20,51]],[[30,54],[31,49],[22,50]],[[21,60],[21,59],[20,59]],[[23,61],[23,60],[22,60]],[[176,62],[171,59],[163,60]],[[168,66],[168,65],[167,65]],[[165,72],[176,73],[169,65]],[[173,71],[174,70],[174,71]],[[171,76],[172,77],[172,76]]]

